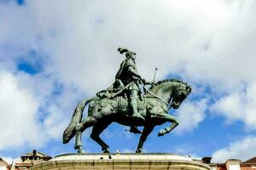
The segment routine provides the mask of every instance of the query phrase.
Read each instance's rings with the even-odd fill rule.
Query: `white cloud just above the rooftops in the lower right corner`
[[[255,156],[256,137],[247,136],[236,142],[231,143],[228,147],[217,150],[212,154],[212,162],[224,162],[227,159],[247,159]]]

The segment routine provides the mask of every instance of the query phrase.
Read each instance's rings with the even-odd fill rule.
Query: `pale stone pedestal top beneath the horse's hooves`
[[[185,156],[173,154],[66,154],[39,163],[32,170],[72,170],[72,169],[198,169],[210,170],[207,164],[193,161]]]

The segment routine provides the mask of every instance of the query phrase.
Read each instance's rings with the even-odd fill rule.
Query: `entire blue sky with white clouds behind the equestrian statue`
[[[75,152],[61,135],[84,98],[107,88],[137,52],[148,80],[175,77],[192,94],[170,111],[180,125],[156,127],[145,152],[247,160],[256,156],[255,0],[0,0],[0,156]],[[87,112],[84,111],[84,115]],[[113,123],[110,150],[136,150],[139,136]],[[101,148],[83,135],[84,150]]]

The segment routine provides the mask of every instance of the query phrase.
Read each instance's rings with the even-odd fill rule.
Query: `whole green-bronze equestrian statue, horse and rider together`
[[[84,99],[77,105],[71,122],[63,133],[63,143],[76,135],[75,149],[82,153],[81,135],[88,127],[93,127],[90,138],[109,152],[108,144],[100,138],[102,131],[112,122],[131,127],[131,133],[139,133],[137,126],[143,126],[143,133],[137,146],[137,153],[143,150],[143,143],[154,126],[172,122],[169,127],[160,130],[159,136],[170,133],[177,127],[177,118],[168,114],[171,108],[177,109],[190,93],[186,82],[168,79],[160,82],[146,82],[137,72],[136,53],[119,48],[126,59],[121,63],[115,82],[107,90],[102,90],[92,99]],[[147,92],[142,94],[139,84]],[[145,84],[151,84],[147,89]],[[139,97],[138,97],[139,96]],[[88,116],[82,120],[85,105],[89,104]]]

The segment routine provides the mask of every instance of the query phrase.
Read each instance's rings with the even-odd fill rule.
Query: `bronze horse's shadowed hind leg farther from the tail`
[[[109,153],[109,146],[106,144],[101,138],[100,134],[102,131],[108,127],[110,122],[98,122],[93,128],[92,132],[90,134],[90,138],[95,140],[96,143],[100,144],[102,146],[102,151],[104,153]]]

